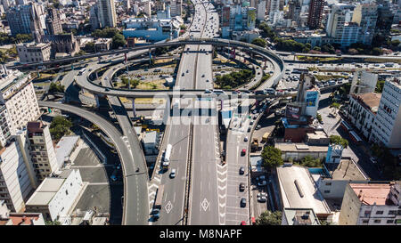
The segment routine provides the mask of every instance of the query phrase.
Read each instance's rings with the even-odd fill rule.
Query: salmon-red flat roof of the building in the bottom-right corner
[[[349,183],[359,200],[365,205],[393,205],[387,200],[391,186],[379,183]]]

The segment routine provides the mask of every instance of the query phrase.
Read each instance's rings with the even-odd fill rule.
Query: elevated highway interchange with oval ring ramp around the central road
[[[248,106],[252,105],[256,101],[255,99],[261,100],[266,97],[275,98],[277,96],[243,93],[250,99],[238,99],[238,95],[233,91],[225,91],[223,100],[226,101],[219,101],[216,99],[216,93],[205,93],[207,90],[213,90],[213,50],[216,46],[228,46],[229,48],[230,46],[237,46],[243,48],[242,50],[263,56],[269,62],[269,67],[272,67],[273,73],[266,82],[258,86],[257,90],[276,85],[283,77],[285,64],[278,55],[267,49],[261,50],[253,45],[241,42],[228,43],[226,40],[217,39],[219,16],[213,4],[206,0],[193,0],[192,3],[195,4],[195,15],[192,18],[191,27],[181,40],[151,45],[152,48],[167,46],[171,43],[176,46],[184,45],[174,92],[113,88],[111,80],[115,73],[133,63],[133,61],[125,61],[124,53],[128,53],[127,50],[91,55],[92,58],[109,55],[109,57],[112,56],[113,62],[110,65],[104,61],[92,60],[89,62],[85,73],[80,75],[78,70],[71,70],[61,79],[61,84],[65,85],[66,90],[75,81],[75,84],[83,90],[94,93],[96,99],[99,98],[98,96],[107,96],[122,134],[110,122],[86,109],[56,102],[39,101],[39,105],[42,107],[53,107],[86,118],[99,126],[115,143],[124,174],[125,193],[122,224],[213,225],[250,223],[250,198],[247,190],[250,188],[248,154],[241,156],[241,150],[245,149],[248,152],[249,148],[249,142],[245,141],[245,137],[250,138],[250,133],[247,132],[248,127],[252,128],[250,118],[248,118],[250,114],[247,113],[248,111],[242,112],[241,116],[234,118],[230,124],[232,129],[227,134],[225,148],[225,161],[227,163],[224,164],[221,158],[222,148],[217,127],[217,110],[227,105],[227,102],[244,101],[246,103],[242,105]],[[179,45],[177,45],[178,42]],[[247,47],[250,46],[252,47],[248,50]],[[138,57],[143,54],[146,56],[148,52],[149,48],[129,50],[127,60],[143,61],[145,59],[138,59]],[[116,53],[118,55],[115,55]],[[48,64],[53,64],[53,62]],[[32,66],[35,65],[37,66],[37,64],[32,64]],[[42,65],[46,65],[46,63],[42,63]],[[100,77],[101,85],[90,80],[91,74],[93,76],[94,72],[105,67],[108,69]],[[262,74],[258,74],[255,79],[259,80],[261,77]],[[162,173],[160,171],[161,156],[158,157],[154,167],[155,172],[149,178],[141,144],[135,135],[127,110],[119,99],[119,97],[128,99],[153,98],[157,95],[167,99],[168,111],[170,110],[170,98],[172,102],[176,100],[180,102],[180,108],[172,109],[172,116],[168,116],[165,134],[160,146],[160,155],[168,144],[173,146],[170,167],[176,169],[175,179],[169,178],[169,172]],[[232,100],[227,100],[229,98]],[[200,114],[197,112],[199,110],[201,110]],[[183,113],[180,114],[181,112]],[[241,166],[245,168],[245,174],[242,175],[238,173]],[[246,190],[238,190],[240,182],[246,185]],[[163,207],[160,212],[160,219],[153,221],[150,215],[151,207],[160,184],[165,185]],[[241,198],[246,198],[247,205],[245,207],[240,206]]]

